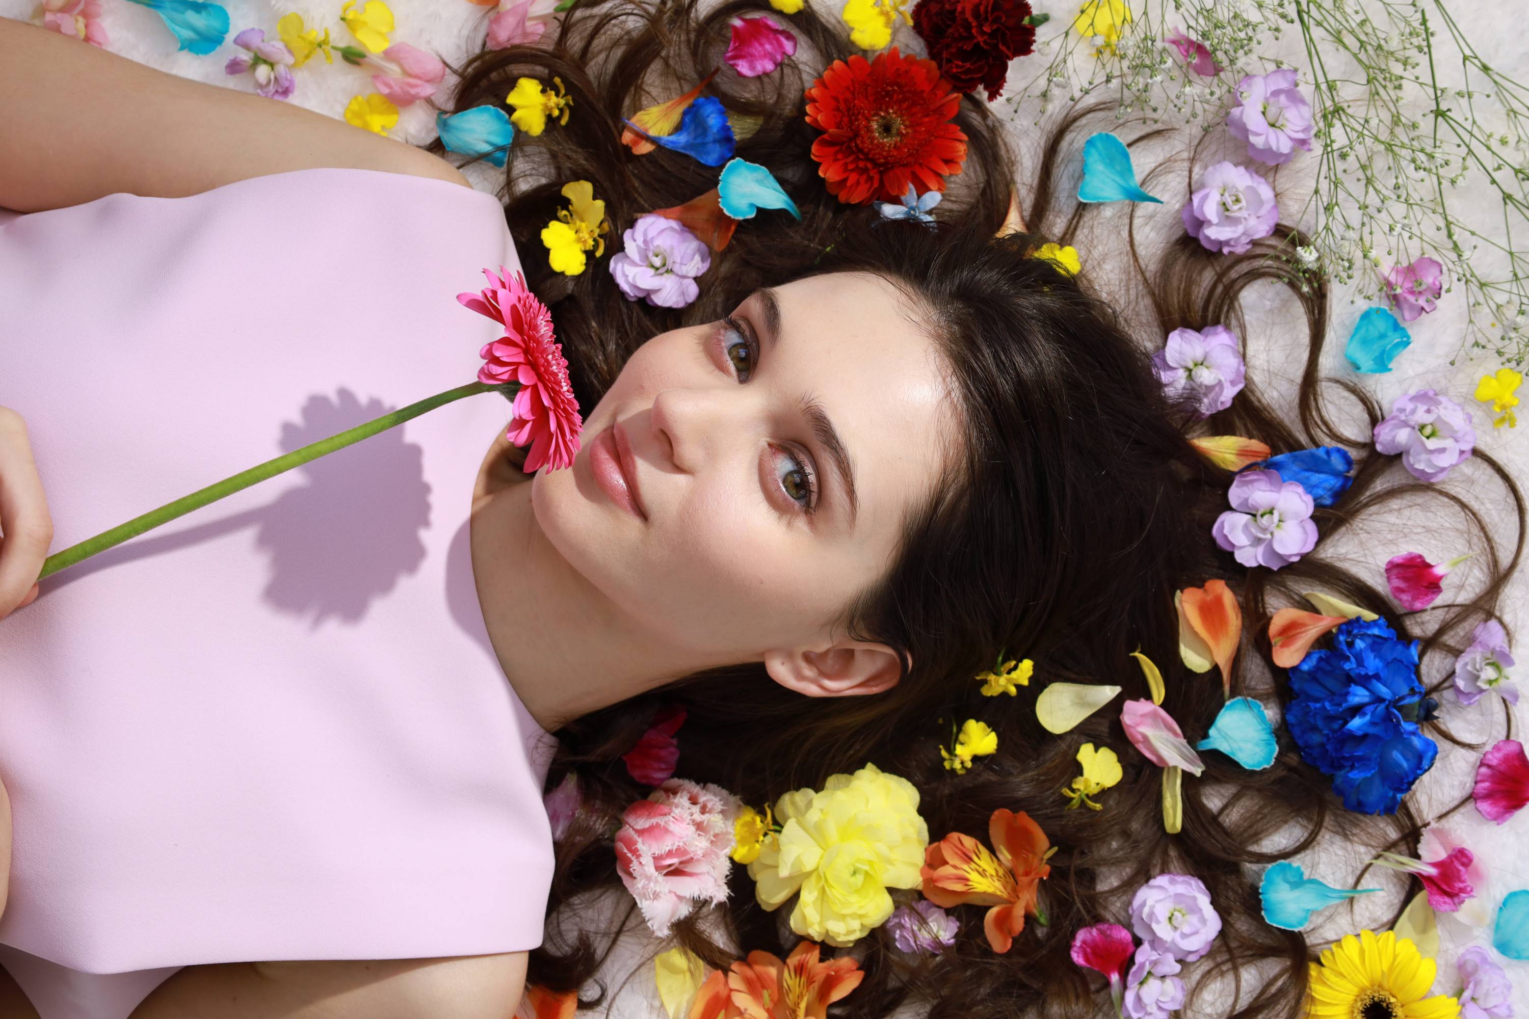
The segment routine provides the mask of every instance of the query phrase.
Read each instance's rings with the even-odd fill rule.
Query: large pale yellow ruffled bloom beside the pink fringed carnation
[[[749,877],[764,909],[797,895],[790,929],[804,938],[853,944],[891,915],[888,888],[920,885],[930,830],[919,791],[873,764],[830,776],[821,791],[786,793],[775,819],[780,836],[749,863]]]

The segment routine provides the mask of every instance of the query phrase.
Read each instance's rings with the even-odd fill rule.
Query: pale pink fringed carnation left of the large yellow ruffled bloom
[[[717,785],[670,779],[621,816],[616,872],[657,937],[696,903],[726,900],[737,810]]]

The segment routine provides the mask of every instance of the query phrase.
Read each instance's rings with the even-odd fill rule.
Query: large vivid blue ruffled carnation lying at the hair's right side
[[[1439,755],[1416,721],[1417,642],[1399,640],[1385,620],[1350,619],[1330,649],[1309,652],[1289,675],[1284,721],[1306,762],[1333,776],[1349,810],[1394,813]]]

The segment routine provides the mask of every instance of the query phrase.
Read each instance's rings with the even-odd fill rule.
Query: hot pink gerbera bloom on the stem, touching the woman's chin
[[[489,286],[482,293],[459,293],[457,301],[479,315],[500,322],[505,335],[483,344],[479,357],[479,382],[503,385],[518,382],[515,419],[505,432],[517,446],[531,446],[526,474],[549,464],[549,471],[573,464],[579,429],[584,419],[578,412],[573,387],[569,385],[569,362],[563,347],[552,336],[552,313],[526,289],[518,272],[511,277],[503,266],[498,275],[485,269]]]

